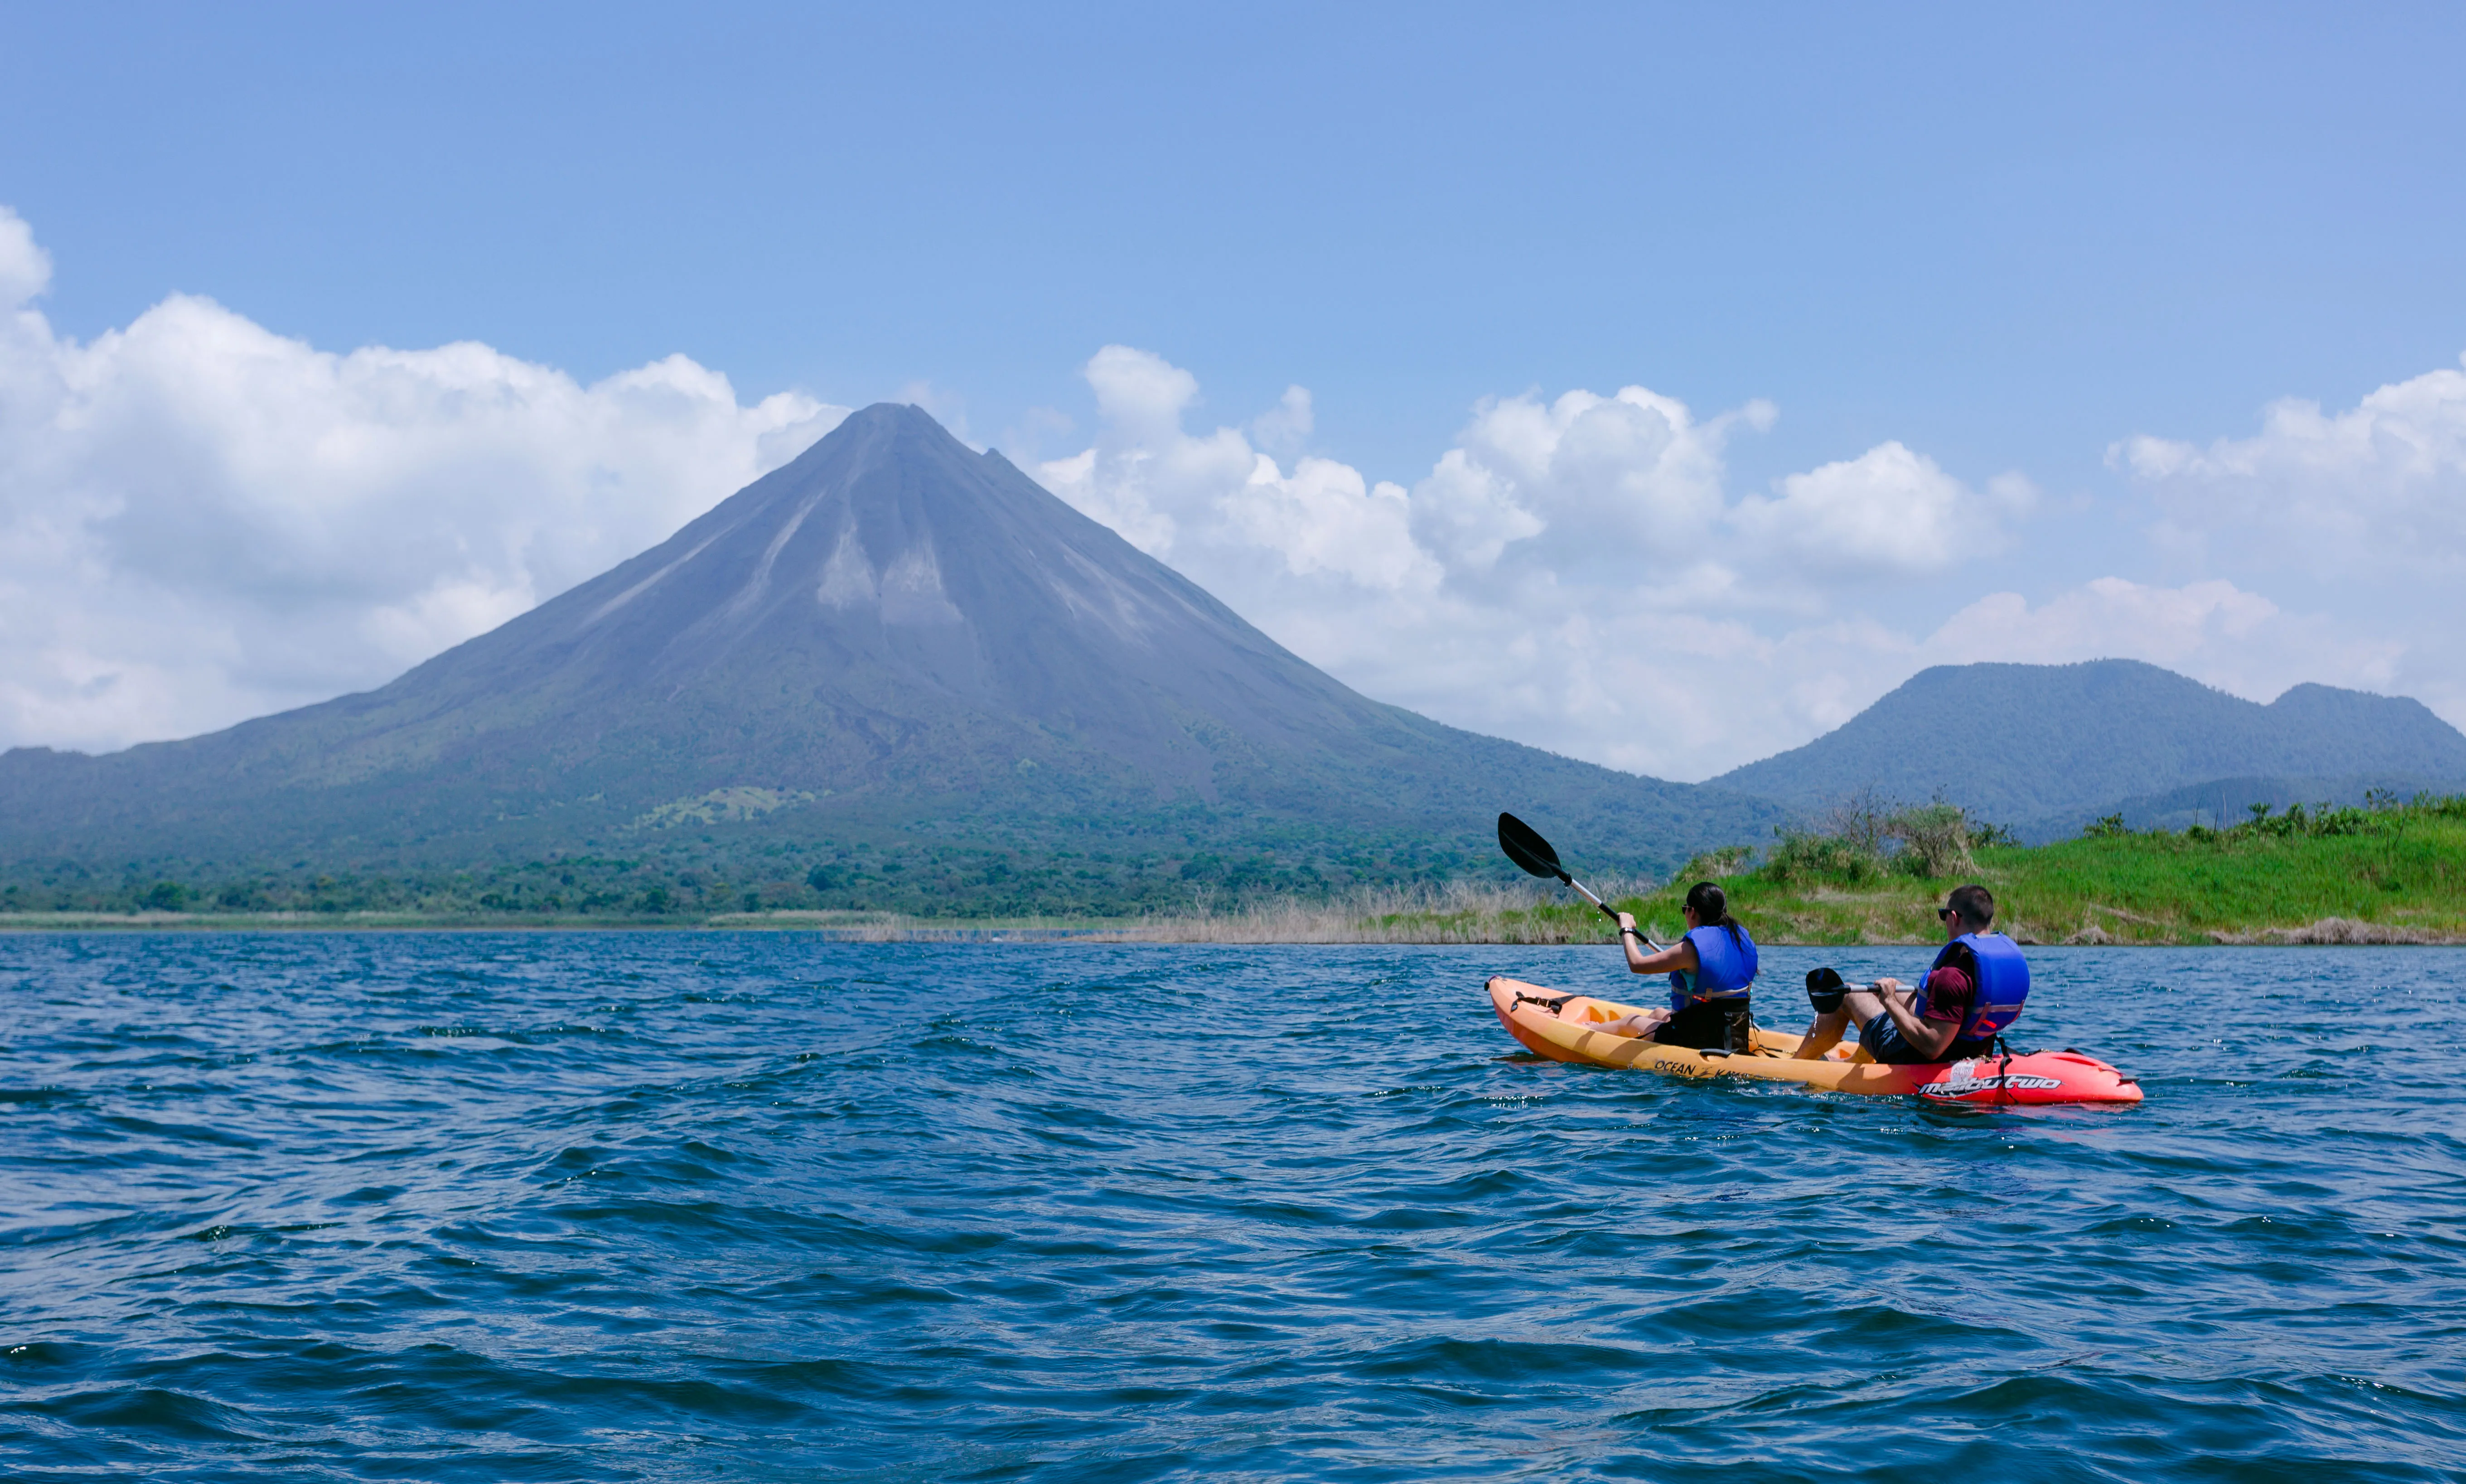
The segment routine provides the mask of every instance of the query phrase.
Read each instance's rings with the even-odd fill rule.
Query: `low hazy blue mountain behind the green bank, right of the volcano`
[[[2269,705],[2140,661],[1936,666],[1840,730],[1711,779],[1817,811],[1864,789],[1946,799],[2025,838],[2103,813],[2466,789],[2466,735],[2419,700],[2296,685]]]

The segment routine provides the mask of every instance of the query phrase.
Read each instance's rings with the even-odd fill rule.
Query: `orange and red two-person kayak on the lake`
[[[1556,996],[1522,979],[1492,979],[1489,1008],[1499,1025],[1524,1050],[1554,1062],[1593,1067],[1635,1067],[1665,1077],[1761,1077],[1766,1082],[1803,1082],[1832,1092],[1916,1095],[1928,1102],[1965,1102],[1983,1107],[2049,1102],[2140,1102],[2140,1085],[2076,1050],[2032,1050],[2025,1055],[1985,1055],[1960,1062],[1894,1067],[1857,1060],[1854,1048],[1832,1048],[1815,1060],[1798,1058],[1798,1038],[1756,1028],[1753,1045],[1734,1053],[1660,1045],[1630,1035],[1596,1030],[1603,1021],[1640,1016],[1652,1006],[1623,1006],[1593,996]]]

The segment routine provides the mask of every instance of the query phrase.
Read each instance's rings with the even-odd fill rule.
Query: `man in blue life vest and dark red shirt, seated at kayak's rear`
[[[1840,1045],[1852,1021],[1859,1045],[1879,1062],[1958,1062],[1995,1050],[1995,1038],[2020,1018],[2030,996],[2030,961],[1995,924],[1995,892],[1953,887],[1936,907],[1943,952],[1926,981],[1911,991],[1899,979],[1850,989],[1832,969],[1808,974],[1815,1023],[1798,1043],[1798,1060],[1815,1060]]]

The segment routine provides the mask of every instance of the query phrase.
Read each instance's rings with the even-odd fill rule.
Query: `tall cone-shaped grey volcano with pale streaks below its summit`
[[[942,900],[984,910],[1070,905],[1021,883],[1090,853],[1174,883],[1142,900],[1228,860],[1285,887],[1492,870],[1499,809],[1613,870],[1780,818],[1366,700],[895,404],[380,690],[0,757],[17,860],[446,870],[873,841],[967,855]]]

